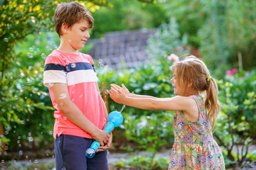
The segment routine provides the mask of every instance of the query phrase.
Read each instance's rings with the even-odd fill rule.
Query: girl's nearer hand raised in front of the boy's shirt
[[[111,84],[112,85],[112,84]],[[111,86],[111,89],[109,91],[110,97],[113,99],[116,103],[122,103],[124,104],[124,100],[127,97],[126,94],[122,91],[122,88],[120,86]]]

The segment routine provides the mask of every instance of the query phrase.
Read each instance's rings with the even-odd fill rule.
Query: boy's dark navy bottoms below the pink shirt
[[[85,157],[92,139],[73,135],[60,135],[54,140],[56,170],[108,170],[107,151]]]

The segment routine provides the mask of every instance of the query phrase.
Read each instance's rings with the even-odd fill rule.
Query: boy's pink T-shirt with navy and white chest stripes
[[[46,58],[43,84],[48,86],[53,107],[56,109],[53,137],[56,139],[56,135],[65,134],[92,139],[92,135],[82,130],[61,113],[50,88],[54,83],[67,84],[71,101],[97,128],[103,130],[107,120],[102,108],[97,76],[90,55],[81,52],[70,54],[54,50]],[[59,97],[65,98],[67,96],[63,94]]]

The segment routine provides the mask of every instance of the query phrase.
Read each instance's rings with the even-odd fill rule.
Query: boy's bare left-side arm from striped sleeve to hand
[[[58,108],[70,121],[75,123],[75,125],[78,125],[86,132],[89,132],[90,135],[97,140],[97,142],[100,142],[100,145],[103,146],[104,143],[107,143],[110,135],[93,125],[90,120],[83,115],[78,106],[76,106],[75,103],[70,100],[67,84],[55,83],[51,88],[58,104]]]

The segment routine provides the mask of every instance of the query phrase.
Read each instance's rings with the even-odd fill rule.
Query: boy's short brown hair
[[[54,13],[55,30],[59,37],[60,35],[63,35],[61,33],[61,26],[63,23],[66,23],[68,28],[70,28],[73,24],[79,23],[81,20],[88,21],[90,28],[92,28],[94,23],[92,13],[76,1],[59,4]]]

